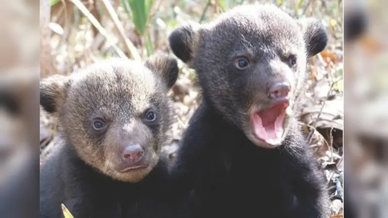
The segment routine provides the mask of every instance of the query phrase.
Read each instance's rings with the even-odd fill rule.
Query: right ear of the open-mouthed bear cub
[[[327,32],[321,22],[315,18],[301,18],[298,20],[305,40],[307,58],[323,51],[327,45]]]

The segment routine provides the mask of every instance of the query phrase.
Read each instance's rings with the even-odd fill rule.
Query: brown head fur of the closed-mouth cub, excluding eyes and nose
[[[171,72],[173,75],[171,76]],[[41,82],[41,103],[60,118],[60,134],[87,164],[121,181],[140,181],[157,163],[163,145],[170,142],[172,122],[164,97],[178,75],[177,62],[165,55],[151,57],[145,65],[112,59],[101,61],[69,76],[52,76]],[[149,108],[156,109],[156,128],[142,122]],[[104,134],[93,132],[92,120],[103,117]],[[119,173],[120,146],[139,143],[145,149],[146,169]]]

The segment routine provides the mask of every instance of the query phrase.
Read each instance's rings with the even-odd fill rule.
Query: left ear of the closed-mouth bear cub
[[[39,85],[40,105],[49,113],[58,112],[65,102],[65,92],[69,78],[63,75],[53,75],[44,78]]]

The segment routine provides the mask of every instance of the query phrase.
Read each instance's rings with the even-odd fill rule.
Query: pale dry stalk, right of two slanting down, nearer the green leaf
[[[109,16],[111,16],[113,23],[119,32],[121,40],[124,42],[128,53],[132,57],[133,60],[135,61],[141,61],[141,57],[139,53],[136,50],[136,47],[132,44],[132,42],[128,39],[128,37],[125,36],[125,31],[123,26],[120,23],[120,20],[118,19],[117,14],[114,12],[113,6],[111,3],[109,3],[108,0],[101,0],[102,3],[104,4],[106,10],[108,11]]]

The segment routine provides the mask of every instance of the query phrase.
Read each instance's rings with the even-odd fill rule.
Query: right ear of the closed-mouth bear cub
[[[173,55],[164,52],[155,53],[146,60],[145,65],[148,69],[162,78],[168,89],[170,89],[178,79],[178,62]]]

